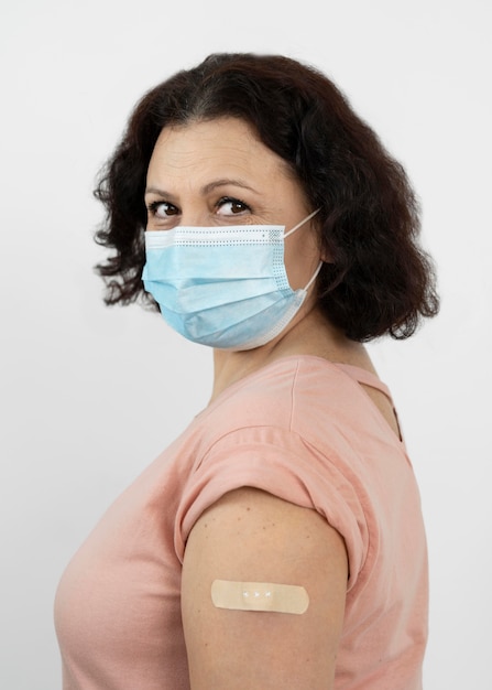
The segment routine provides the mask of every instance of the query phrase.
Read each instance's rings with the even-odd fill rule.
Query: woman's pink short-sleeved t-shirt
[[[336,690],[422,688],[419,495],[403,442],[361,382],[389,395],[362,369],[287,357],[194,419],[113,503],[62,578],[64,690],[189,689],[179,604],[186,539],[208,506],[241,486],[317,510],[346,541]]]

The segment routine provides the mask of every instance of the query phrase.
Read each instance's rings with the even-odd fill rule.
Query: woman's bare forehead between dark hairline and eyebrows
[[[261,180],[291,177],[276,153],[260,141],[254,129],[237,118],[193,121],[165,127],[149,164],[147,181],[247,175]]]

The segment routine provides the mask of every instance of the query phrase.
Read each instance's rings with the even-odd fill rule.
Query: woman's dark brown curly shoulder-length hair
[[[106,303],[144,292],[143,230],[149,162],[171,123],[232,116],[289,165],[317,215],[332,259],[317,281],[329,321],[353,341],[411,336],[439,310],[434,265],[418,244],[419,207],[402,165],[347,98],[313,66],[281,55],[212,54],[150,90],[98,179],[106,207],[96,241],[116,250],[96,270]]]

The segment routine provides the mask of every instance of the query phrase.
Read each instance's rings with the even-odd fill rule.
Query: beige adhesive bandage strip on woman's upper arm
[[[214,580],[211,601],[217,608],[302,614],[309,606],[306,590],[295,584]]]

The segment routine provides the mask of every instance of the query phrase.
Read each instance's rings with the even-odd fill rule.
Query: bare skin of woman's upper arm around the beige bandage
[[[254,488],[230,492],[194,526],[182,611],[193,690],[330,690],[343,622],[347,552],[315,510]],[[214,580],[304,586],[302,615],[216,608]]]

